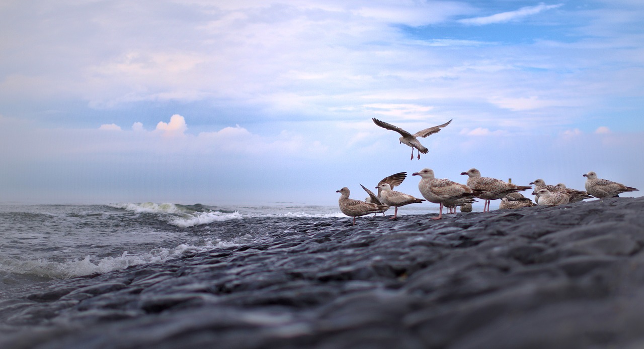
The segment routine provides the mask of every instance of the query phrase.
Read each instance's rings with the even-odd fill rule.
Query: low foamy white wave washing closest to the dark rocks
[[[108,273],[119,269],[125,269],[131,265],[163,263],[167,260],[178,258],[184,253],[199,253],[215,248],[238,246],[233,242],[224,242],[220,239],[205,240],[204,246],[193,246],[180,244],[174,248],[156,248],[148,253],[131,255],[127,251],[120,256],[108,256],[95,258],[85,256],[75,260],[64,262],[52,262],[47,260],[17,260],[0,256],[0,271],[15,274],[32,274],[36,276],[56,279],[73,278],[94,273]]]

